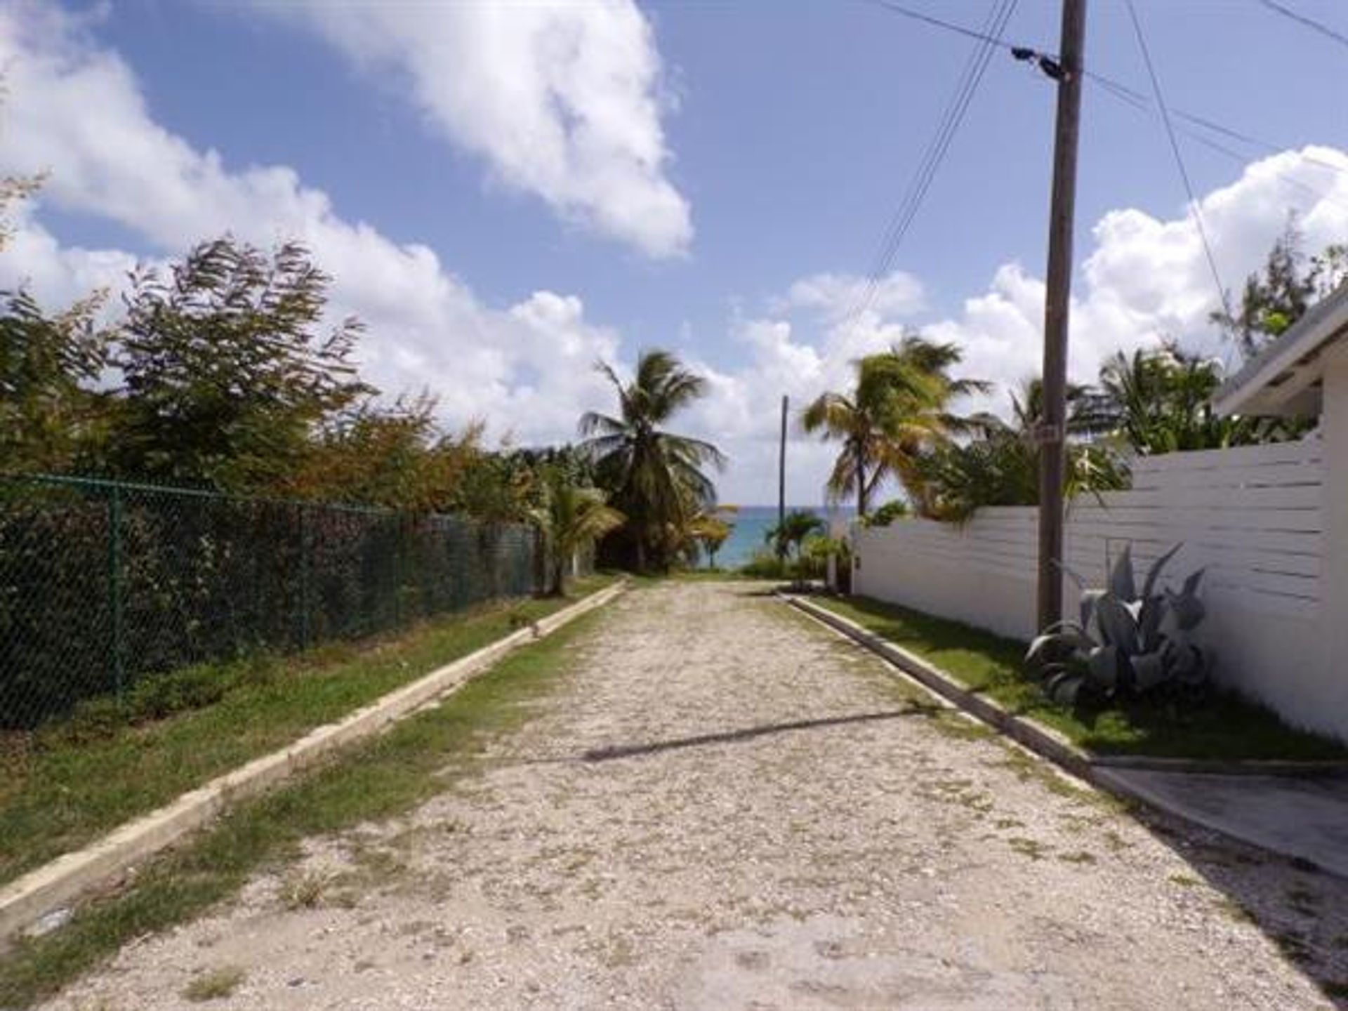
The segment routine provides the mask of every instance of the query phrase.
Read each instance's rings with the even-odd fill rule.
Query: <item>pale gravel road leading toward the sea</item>
[[[480,775],[53,1007],[202,1007],[212,973],[231,1008],[1299,1008],[1348,980],[1343,882],[1135,820],[748,584],[630,593],[569,667]]]

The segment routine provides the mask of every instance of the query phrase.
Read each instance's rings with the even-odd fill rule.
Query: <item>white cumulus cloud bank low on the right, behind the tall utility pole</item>
[[[1309,251],[1348,236],[1348,152],[1312,146],[1264,158],[1204,195],[1200,208],[1223,279],[1239,297],[1246,275],[1262,264],[1289,212],[1297,214]],[[849,363],[890,345],[906,326],[956,342],[964,352],[961,373],[995,383],[989,394],[964,404],[967,410],[1006,412],[1006,391],[1039,372],[1045,283],[1022,264],[1002,264],[987,290],[948,315],[925,311],[922,286],[906,274],[874,286],[876,295],[857,315],[864,284],[856,276],[811,274],[767,299],[763,314],[732,321],[747,364],[714,375],[714,398],[702,408],[702,423],[720,434],[739,461],[735,495],[752,501],[775,495],[782,394],[802,406],[824,390],[847,388]],[[1169,218],[1138,209],[1109,212],[1092,229],[1077,276],[1070,376],[1092,381],[1108,355],[1163,338],[1227,355],[1229,349],[1208,321],[1219,305],[1198,233],[1184,208]],[[793,426],[795,500],[818,500],[834,452]]]

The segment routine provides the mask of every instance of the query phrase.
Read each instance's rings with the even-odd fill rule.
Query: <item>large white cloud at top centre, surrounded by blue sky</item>
[[[665,173],[661,55],[632,0],[260,8],[391,75],[434,129],[565,218],[650,256],[686,252],[687,201]]]

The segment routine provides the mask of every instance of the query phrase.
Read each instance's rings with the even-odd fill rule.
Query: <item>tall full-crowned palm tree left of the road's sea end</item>
[[[643,350],[636,376],[624,383],[605,363],[596,367],[617,391],[617,417],[588,411],[581,417],[581,448],[594,462],[600,485],[627,515],[636,568],[647,551],[667,565],[687,537],[698,510],[716,501],[716,485],[704,472],[721,469],[725,456],[710,442],[675,435],[662,426],[706,392],[706,380],[667,350]]]

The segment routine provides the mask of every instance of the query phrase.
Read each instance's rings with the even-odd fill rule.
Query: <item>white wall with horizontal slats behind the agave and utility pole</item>
[[[1348,363],[1343,371],[1348,448]],[[1325,562],[1325,518],[1341,507],[1348,522],[1348,487],[1326,504],[1335,492],[1321,456],[1321,441],[1310,438],[1138,460],[1131,491],[1069,506],[1065,555],[1073,572],[1099,586],[1124,545],[1132,546],[1140,578],[1154,558],[1182,543],[1166,573],[1178,584],[1194,569],[1206,570],[1201,634],[1217,658],[1216,677],[1291,723],[1348,740],[1348,678],[1336,659],[1348,655],[1348,607],[1321,607],[1326,574],[1337,572]],[[1035,512],[988,508],[964,526],[910,519],[859,528],[855,592],[1029,639],[1035,631]],[[1348,604],[1348,563],[1339,568],[1335,599]],[[1069,581],[1069,615],[1076,599]],[[1332,652],[1324,647],[1326,628],[1339,636]]]

